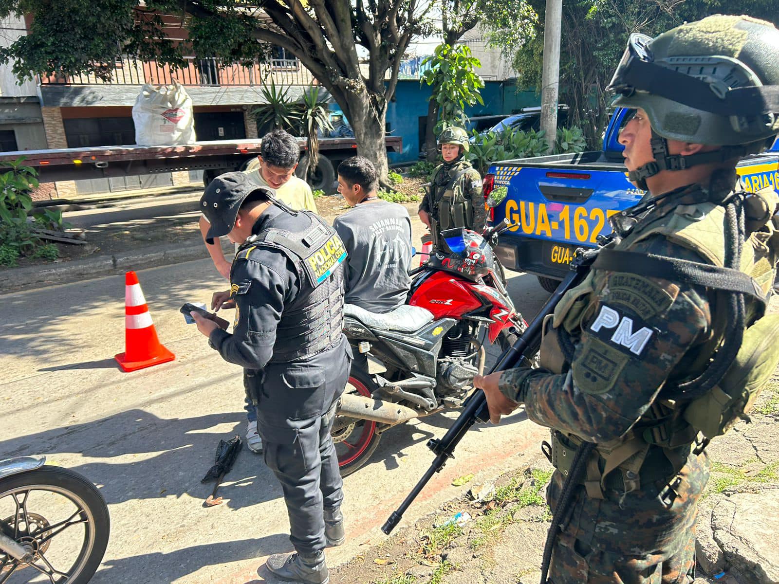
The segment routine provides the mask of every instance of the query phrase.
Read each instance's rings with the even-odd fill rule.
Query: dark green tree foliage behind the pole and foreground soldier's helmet
[[[513,50],[518,86],[541,86],[545,0],[528,0],[541,17],[534,33]],[[612,78],[630,33],[656,36],[685,21],[716,13],[749,14],[776,23],[779,0],[579,0],[563,2],[560,101],[570,107],[569,123],[583,129],[596,147],[608,122]],[[495,39],[498,40],[498,39]],[[506,47],[504,46],[504,50]]]

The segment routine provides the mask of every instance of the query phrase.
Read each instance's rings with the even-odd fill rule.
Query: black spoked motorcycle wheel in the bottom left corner
[[[0,581],[11,584],[12,576],[30,570],[58,584],[86,584],[103,560],[111,519],[103,495],[89,480],[72,470],[41,466],[0,480],[0,529],[33,553],[23,562],[0,551]],[[64,546],[63,533],[69,537]],[[72,547],[79,550],[66,568],[58,556],[69,555]]]

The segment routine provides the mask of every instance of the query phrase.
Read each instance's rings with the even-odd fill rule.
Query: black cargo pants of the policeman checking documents
[[[257,429],[263,437],[265,463],[284,491],[290,540],[303,554],[325,548],[324,510],[339,507],[344,499],[330,430],[350,361],[344,339],[337,350],[305,364],[263,371]]]

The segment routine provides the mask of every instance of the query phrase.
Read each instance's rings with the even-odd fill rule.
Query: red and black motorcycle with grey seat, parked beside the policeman
[[[484,370],[485,343],[505,350],[527,328],[492,253],[508,228],[446,230],[411,272],[407,304],[386,314],[345,307],[344,333],[384,371],[352,367],[332,432],[343,476],[368,461],[390,427],[461,406]]]

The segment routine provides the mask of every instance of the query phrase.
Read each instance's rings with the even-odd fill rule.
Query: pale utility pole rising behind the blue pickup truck
[[[557,97],[560,89],[560,21],[562,0],[546,0],[544,21],[544,70],[541,77],[541,129],[549,142],[549,150],[555,147],[557,135]]]

